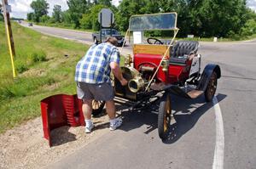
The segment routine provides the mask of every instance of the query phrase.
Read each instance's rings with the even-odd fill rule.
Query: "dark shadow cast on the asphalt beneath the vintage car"
[[[218,94],[218,102],[221,102],[227,96],[224,94]],[[173,144],[186,132],[189,132],[193,128],[196,122],[200,119],[201,115],[204,115],[207,110],[211,109],[212,103],[206,103],[204,97],[198,99],[183,99],[172,95],[172,113],[174,114],[174,120],[176,121],[170,127],[169,137],[163,141],[164,144]],[[119,109],[124,109],[124,106],[120,106]],[[158,109],[159,103],[152,104],[150,109],[143,110],[141,112],[131,112],[129,110],[123,110],[121,116],[124,119],[124,124],[120,127],[120,130],[125,132],[147,125],[147,129],[144,133],[157,129],[158,124]]]

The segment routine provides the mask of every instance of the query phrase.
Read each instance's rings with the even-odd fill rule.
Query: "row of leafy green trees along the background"
[[[118,7],[112,0],[67,0],[68,9],[55,5],[49,17],[49,3],[31,3],[33,13],[27,20],[43,23],[72,25],[73,28],[99,30],[98,13],[111,8],[115,15],[114,27],[126,31],[133,14],[177,12],[179,37],[240,37],[256,34],[256,14],[246,6],[246,0],[122,0]],[[154,32],[155,33],[155,32]],[[156,31],[156,34],[162,34]]]

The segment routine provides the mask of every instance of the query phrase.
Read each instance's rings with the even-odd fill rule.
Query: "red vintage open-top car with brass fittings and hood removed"
[[[155,30],[173,31],[172,41],[154,37],[143,41],[145,31]],[[133,55],[125,57],[125,66],[121,67],[128,85],[123,87],[114,79],[115,95],[134,102],[131,106],[134,111],[160,99],[158,131],[160,138],[166,139],[172,119],[171,93],[187,99],[204,95],[210,102],[221,70],[218,65],[208,64],[201,72],[199,42],[175,42],[178,32],[176,13],[133,15],[126,36],[131,35],[131,31],[136,43],[132,46]],[[104,102],[94,102],[94,113],[99,113]]]

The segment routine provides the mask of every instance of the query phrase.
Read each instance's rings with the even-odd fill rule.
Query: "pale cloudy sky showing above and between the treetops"
[[[67,0],[47,0],[49,3],[49,15],[52,14],[52,10],[55,4],[61,5],[62,10],[67,10]],[[118,6],[119,0],[112,1],[115,6]],[[9,4],[12,7],[11,17],[26,19],[26,14],[32,12],[30,4],[32,0],[9,0]],[[256,12],[256,0],[247,0],[247,6],[252,8]]]

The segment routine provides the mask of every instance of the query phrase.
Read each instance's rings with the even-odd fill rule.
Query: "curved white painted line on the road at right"
[[[224,123],[222,119],[221,110],[218,104],[218,99],[214,96],[212,99],[213,108],[215,110],[216,123],[216,144],[214,150],[214,158],[212,169],[224,168]]]

